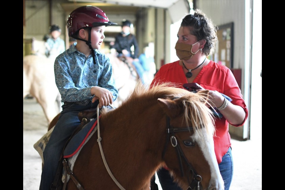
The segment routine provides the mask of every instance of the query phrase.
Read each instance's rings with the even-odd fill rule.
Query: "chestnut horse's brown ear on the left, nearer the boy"
[[[158,104],[163,108],[165,113],[170,117],[173,118],[181,113],[179,110],[179,106],[177,102],[170,100],[170,99],[157,99]]]

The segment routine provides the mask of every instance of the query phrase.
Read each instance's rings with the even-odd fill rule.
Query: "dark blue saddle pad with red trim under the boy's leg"
[[[100,118],[100,116],[99,116]],[[70,158],[77,153],[77,151],[82,147],[85,143],[86,139],[97,125],[97,119],[91,120],[88,124],[83,126],[83,128],[72,137],[72,139],[67,144],[64,149],[63,157]]]

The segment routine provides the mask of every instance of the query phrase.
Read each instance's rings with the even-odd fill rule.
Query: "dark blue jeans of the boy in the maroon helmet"
[[[62,106],[58,122],[43,152],[44,165],[42,168],[40,190],[50,189],[50,185],[53,183],[64,145],[72,135],[72,132],[80,125],[78,113],[92,107],[97,107],[98,104],[99,102],[96,101],[94,103],[90,102],[88,105],[68,103]]]

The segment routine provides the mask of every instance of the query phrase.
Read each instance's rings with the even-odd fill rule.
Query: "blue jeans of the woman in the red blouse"
[[[222,162],[219,164],[219,170],[224,180],[225,190],[229,190],[233,175],[232,148],[230,147],[227,153],[222,157]],[[157,171],[160,185],[163,190],[182,190],[169,174],[169,171],[161,168]]]

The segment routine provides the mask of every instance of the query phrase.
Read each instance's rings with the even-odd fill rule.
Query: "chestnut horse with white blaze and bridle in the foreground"
[[[155,172],[167,167],[182,189],[224,189],[208,93],[166,83],[145,90],[137,83],[120,106],[101,109],[98,130],[73,167],[77,184],[69,180],[66,188],[146,190]]]

